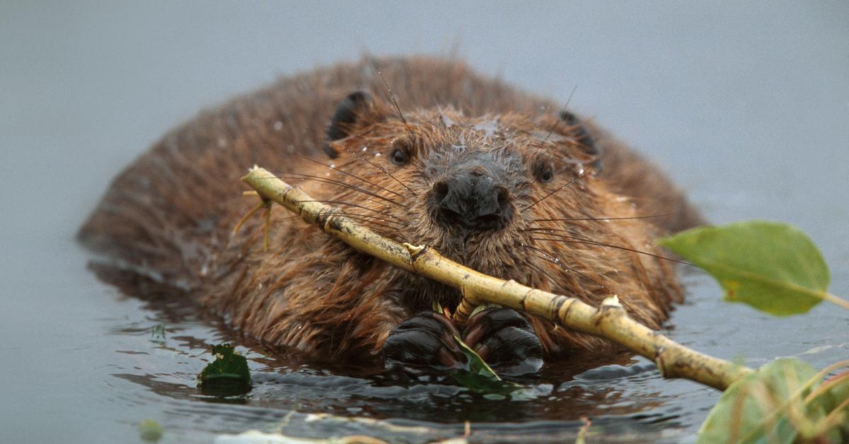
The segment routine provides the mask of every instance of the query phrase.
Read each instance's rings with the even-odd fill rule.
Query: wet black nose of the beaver
[[[501,228],[509,220],[507,188],[479,171],[461,173],[433,187],[437,221],[476,230]]]

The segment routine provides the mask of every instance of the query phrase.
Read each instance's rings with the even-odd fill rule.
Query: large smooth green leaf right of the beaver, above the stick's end
[[[693,228],[659,242],[711,273],[726,301],[789,316],[807,312],[828,296],[823,255],[805,233],[784,223]]]

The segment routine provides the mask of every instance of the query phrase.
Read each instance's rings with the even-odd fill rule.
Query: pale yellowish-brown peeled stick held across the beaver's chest
[[[464,296],[454,313],[458,323],[464,323],[475,306],[492,303],[548,318],[567,329],[625,346],[654,361],[664,378],[686,378],[725,390],[752,372],[751,368],[682,346],[634,321],[615,295],[596,308],[576,298],[533,289],[514,280],[493,278],[451,261],[426,245],[386,239],[260,167],[252,168],[242,180],[256,189],[262,199],[283,205],[354,249],[458,289]]]

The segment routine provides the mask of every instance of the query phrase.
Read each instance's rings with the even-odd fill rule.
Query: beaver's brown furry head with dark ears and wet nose
[[[635,276],[645,281],[641,294],[655,286],[638,254],[604,248],[644,248],[649,233],[644,223],[609,220],[632,215],[631,205],[610,199],[596,175],[593,139],[571,113],[402,112],[357,92],[340,103],[327,135],[335,170],[356,175],[356,188],[368,192],[346,188],[335,200],[356,203],[352,212],[387,237],[584,299],[633,290],[620,284]],[[628,269],[634,273],[619,275]],[[397,279],[400,301],[413,309],[460,299],[428,279],[403,272]]]

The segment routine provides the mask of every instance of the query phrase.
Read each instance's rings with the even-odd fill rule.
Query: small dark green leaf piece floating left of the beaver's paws
[[[233,346],[212,346],[216,359],[198,374],[198,386],[206,395],[234,396],[251,389],[248,360],[236,354]]]

